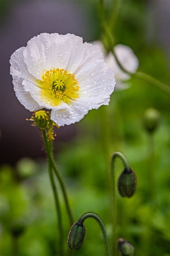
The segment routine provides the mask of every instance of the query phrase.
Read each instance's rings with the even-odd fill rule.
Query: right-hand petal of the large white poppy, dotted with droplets
[[[90,108],[99,108],[108,105],[110,95],[114,91],[114,73],[103,61],[95,61],[90,65],[87,63],[75,74],[80,86],[80,98]]]

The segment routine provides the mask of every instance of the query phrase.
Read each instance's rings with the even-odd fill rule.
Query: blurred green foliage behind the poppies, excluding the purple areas
[[[96,21],[96,2],[91,6]],[[140,59],[140,70],[168,83],[169,73],[162,50],[148,44],[145,38],[145,9],[145,1],[124,1],[115,27],[115,40],[134,49]],[[95,31],[94,35],[97,34]],[[91,38],[94,39],[97,38]],[[56,142],[57,148],[60,148],[56,160],[67,185],[75,221],[84,212],[96,212],[111,237],[109,170],[106,164],[108,144],[110,152],[123,152],[136,172],[138,185],[132,198],[121,198],[117,193],[119,237],[135,246],[137,256],[168,256],[169,99],[149,83],[138,79],[131,79],[129,83],[131,88],[128,90],[113,93],[109,106],[90,111],[77,124],[79,132],[74,140],[61,144]],[[161,113],[161,124],[154,135],[154,158],[148,154],[148,135],[142,123],[143,113],[150,107]],[[150,196],[148,179],[150,162],[156,187],[154,200]],[[119,161],[116,167],[118,179],[123,168]],[[60,201],[65,250],[68,250],[66,241],[70,226],[61,194]],[[17,239],[13,233],[15,223],[22,225],[24,230]],[[98,225],[88,220],[85,226],[84,243],[74,255],[104,255]],[[25,158],[15,168],[1,166],[0,255],[55,255],[57,236],[55,207],[44,160],[34,162]]]

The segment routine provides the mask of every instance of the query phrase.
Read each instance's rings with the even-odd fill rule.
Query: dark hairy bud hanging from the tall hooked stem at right
[[[136,174],[129,169],[121,173],[118,179],[118,191],[122,197],[131,197],[133,196],[137,185]]]

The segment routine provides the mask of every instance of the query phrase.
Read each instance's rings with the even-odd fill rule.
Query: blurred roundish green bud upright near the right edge
[[[154,133],[160,123],[160,113],[156,109],[147,109],[143,116],[143,123],[148,133]]]

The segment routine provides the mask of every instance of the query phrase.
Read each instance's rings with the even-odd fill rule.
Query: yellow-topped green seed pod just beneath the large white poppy
[[[36,125],[41,129],[46,129],[48,120],[49,120],[49,115],[48,112],[45,110],[39,110],[35,112],[35,123]]]

